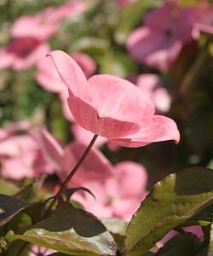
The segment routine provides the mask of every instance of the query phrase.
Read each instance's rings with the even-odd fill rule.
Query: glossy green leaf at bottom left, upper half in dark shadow
[[[60,201],[50,218],[24,235],[9,232],[6,239],[29,241],[69,255],[116,255],[117,250],[113,237],[97,218],[66,201]]]

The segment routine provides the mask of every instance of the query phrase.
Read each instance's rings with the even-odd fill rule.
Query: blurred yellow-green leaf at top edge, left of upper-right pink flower
[[[141,22],[144,12],[156,6],[156,0],[138,0],[123,9],[115,32],[116,41],[119,44],[124,44],[130,32]]]

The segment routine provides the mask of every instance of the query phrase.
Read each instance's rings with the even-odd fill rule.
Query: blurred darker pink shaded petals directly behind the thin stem
[[[64,180],[77,164],[87,146],[83,143],[69,143],[62,148],[45,127],[31,131],[39,143],[43,158],[53,167],[61,180]],[[92,148],[78,172],[72,177],[70,185],[81,186],[88,180],[104,180],[112,174],[112,165],[98,149]]]

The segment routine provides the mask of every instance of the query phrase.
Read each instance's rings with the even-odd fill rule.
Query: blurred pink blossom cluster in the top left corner
[[[60,7],[49,7],[36,15],[24,15],[14,21],[10,42],[0,48],[0,69],[27,70],[49,52],[48,39],[58,31],[60,21],[85,11],[81,1],[71,1]]]

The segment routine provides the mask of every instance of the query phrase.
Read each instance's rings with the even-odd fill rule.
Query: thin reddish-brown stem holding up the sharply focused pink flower
[[[76,164],[76,166],[74,166],[74,168],[72,169],[70,174],[66,177],[65,181],[61,184],[59,191],[55,195],[53,201],[51,201],[47,211],[44,214],[44,216],[47,216],[49,214],[49,212],[52,210],[52,207],[55,205],[55,202],[58,201],[58,199],[60,198],[60,195],[65,191],[66,185],[69,183],[69,181],[71,180],[73,175],[78,171],[79,166],[81,166],[81,164],[83,163],[83,160],[89,154],[89,151],[92,148],[92,146],[94,145],[95,140],[96,140],[97,137],[98,137],[98,134],[95,134],[95,136],[92,138],[91,142],[89,143],[89,146],[84,151],[82,157],[80,158],[80,160],[78,160],[78,163]]]

